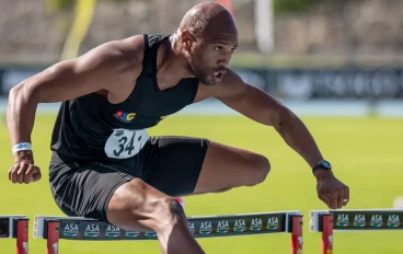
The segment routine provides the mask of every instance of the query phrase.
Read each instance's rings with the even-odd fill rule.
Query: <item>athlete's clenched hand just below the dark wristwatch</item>
[[[318,170],[318,197],[331,209],[341,209],[349,200],[348,186],[338,181],[331,171]]]

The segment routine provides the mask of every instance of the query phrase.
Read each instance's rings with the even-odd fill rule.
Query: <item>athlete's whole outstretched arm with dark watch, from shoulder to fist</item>
[[[229,69],[223,80],[211,88],[211,96],[257,123],[273,126],[311,169],[323,160],[315,140],[298,116],[266,92],[245,83],[232,70]],[[325,204],[331,208],[346,205],[348,187],[336,180],[332,171],[319,169],[314,176],[319,183],[318,195]],[[320,186],[322,183],[324,187]]]

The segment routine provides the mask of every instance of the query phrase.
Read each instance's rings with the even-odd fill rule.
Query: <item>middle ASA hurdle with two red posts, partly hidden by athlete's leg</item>
[[[196,239],[257,234],[291,234],[291,254],[302,253],[302,213],[299,210],[188,217]],[[34,239],[45,239],[47,254],[60,251],[60,240],[157,240],[152,231],[127,231],[82,217],[35,216]]]

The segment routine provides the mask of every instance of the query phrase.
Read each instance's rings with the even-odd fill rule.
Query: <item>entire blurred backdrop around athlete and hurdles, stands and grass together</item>
[[[0,0],[0,115],[13,85],[53,64],[136,34],[173,33],[202,0]],[[321,151],[350,188],[350,209],[403,207],[403,0],[217,0],[233,14],[240,47],[231,67],[301,116]],[[43,180],[13,185],[9,131],[0,123],[0,215],[64,213],[47,182],[58,103],[41,104],[33,132]],[[0,122],[4,122],[1,116]],[[270,160],[269,177],[253,188],[185,197],[188,216],[299,209],[304,253],[320,253],[309,211],[327,209],[309,166],[266,126],[216,100],[168,117],[150,135],[206,137]],[[30,196],[31,195],[31,196]],[[400,218],[403,228],[403,216]],[[335,253],[401,254],[403,231],[335,233]],[[365,235],[365,236],[364,236]],[[30,240],[33,253],[45,242]],[[289,236],[200,240],[207,253],[289,253]],[[1,243],[0,253],[14,245]],[[61,253],[159,253],[156,242],[61,243]]]

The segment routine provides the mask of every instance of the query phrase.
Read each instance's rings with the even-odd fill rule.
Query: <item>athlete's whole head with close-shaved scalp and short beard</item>
[[[187,69],[206,85],[219,83],[238,47],[231,13],[215,2],[203,2],[186,12],[176,31]]]

